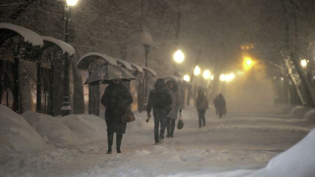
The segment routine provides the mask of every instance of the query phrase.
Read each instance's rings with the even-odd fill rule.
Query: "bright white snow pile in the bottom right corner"
[[[195,173],[177,174],[169,177],[314,177],[315,129],[298,144],[272,158],[265,168],[259,170],[236,170],[211,173],[210,169]]]

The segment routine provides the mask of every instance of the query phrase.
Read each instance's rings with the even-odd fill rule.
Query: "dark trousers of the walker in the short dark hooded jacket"
[[[164,138],[165,126],[166,126],[166,110],[164,109],[154,109],[154,140],[158,142],[158,137]],[[158,128],[160,128],[160,134],[158,135]]]

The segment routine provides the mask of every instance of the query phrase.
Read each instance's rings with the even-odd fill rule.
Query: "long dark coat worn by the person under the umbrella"
[[[106,107],[105,121],[108,133],[125,133],[126,123],[122,122],[124,104],[128,107],[133,99],[122,83],[110,84],[102,96],[101,103]]]

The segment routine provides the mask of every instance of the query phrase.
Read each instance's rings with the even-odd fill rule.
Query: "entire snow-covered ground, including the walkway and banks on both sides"
[[[146,123],[145,113],[136,113],[123,137],[123,153],[108,155],[102,118],[17,115],[0,106],[0,176],[315,176],[314,119],[252,113],[219,119],[210,112],[206,126],[198,128],[196,111],[183,110],[184,128],[175,129],[175,137],[165,138],[162,145],[154,145],[153,121]]]

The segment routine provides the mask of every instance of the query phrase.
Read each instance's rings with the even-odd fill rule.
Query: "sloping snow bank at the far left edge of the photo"
[[[48,148],[41,136],[21,115],[0,105],[0,151],[36,152]]]

